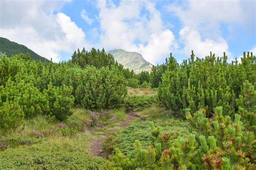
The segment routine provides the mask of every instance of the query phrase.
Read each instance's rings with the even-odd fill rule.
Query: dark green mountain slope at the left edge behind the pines
[[[48,59],[43,58],[43,56],[38,55],[28,47],[21,44],[17,44],[16,42],[12,42],[9,39],[3,38],[3,37],[0,37],[0,56],[2,54],[1,52],[6,53],[8,57],[11,57],[14,54],[19,54],[19,53],[26,54],[28,52],[31,56],[31,59],[33,60],[41,60],[41,61],[49,62]]]

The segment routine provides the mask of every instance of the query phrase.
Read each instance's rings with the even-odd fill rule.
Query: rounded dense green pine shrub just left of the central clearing
[[[117,69],[86,67],[77,76],[80,77],[74,89],[77,104],[91,110],[118,108],[123,104],[126,82]]]

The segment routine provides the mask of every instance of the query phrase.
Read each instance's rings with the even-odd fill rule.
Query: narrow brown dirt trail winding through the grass
[[[103,141],[110,136],[111,133],[116,132],[117,130],[124,128],[125,126],[129,126],[134,119],[138,119],[139,115],[136,114],[136,112],[128,112],[127,118],[124,122],[116,126],[114,129],[110,129],[107,131],[103,136],[100,136],[96,139],[93,139],[93,143],[91,144],[89,148],[89,154],[96,156],[96,157],[103,157],[107,158],[108,155],[105,155],[103,153],[102,144]]]

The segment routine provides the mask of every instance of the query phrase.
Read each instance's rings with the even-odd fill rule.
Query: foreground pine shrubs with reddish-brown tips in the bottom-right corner
[[[148,147],[136,140],[134,155],[125,155],[116,148],[109,168],[142,169],[254,169],[254,133],[246,131],[241,116],[223,116],[223,107],[215,108],[214,118],[206,117],[206,110],[186,118],[198,134],[181,137],[177,132],[161,132],[151,123],[154,137]]]

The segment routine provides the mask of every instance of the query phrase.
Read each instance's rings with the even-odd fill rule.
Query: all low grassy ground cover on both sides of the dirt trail
[[[144,121],[135,121],[119,131],[111,134],[104,142],[104,149],[112,153],[119,148],[124,154],[134,154],[133,144],[140,140],[145,148],[154,140],[150,122],[164,132],[179,132],[186,136],[192,132],[190,125],[181,120],[163,114],[164,109],[157,104],[146,108],[138,115]],[[85,119],[90,112],[84,109],[73,109],[73,115],[61,122],[68,128],[78,129],[75,133],[63,135],[59,128],[60,122],[50,117],[38,115],[25,121],[18,131],[9,131],[0,136],[0,169],[103,169],[107,159],[93,157],[88,154],[93,139],[115,128],[126,119],[125,111],[113,109],[109,126],[103,129],[87,130]]]

